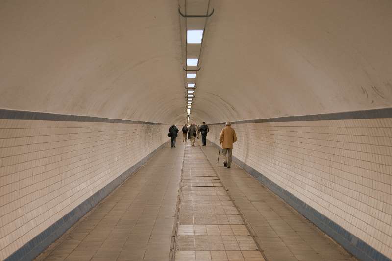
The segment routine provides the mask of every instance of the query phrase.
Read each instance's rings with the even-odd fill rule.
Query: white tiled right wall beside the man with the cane
[[[392,119],[232,127],[233,156],[392,258]]]

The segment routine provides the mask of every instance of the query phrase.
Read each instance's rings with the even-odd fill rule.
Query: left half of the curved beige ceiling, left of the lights
[[[178,3],[0,2],[0,107],[185,120]]]

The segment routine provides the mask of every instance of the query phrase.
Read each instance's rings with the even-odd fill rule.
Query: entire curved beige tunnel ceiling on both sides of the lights
[[[5,109],[185,121],[172,0],[3,1]],[[392,105],[392,2],[211,0],[190,121]]]

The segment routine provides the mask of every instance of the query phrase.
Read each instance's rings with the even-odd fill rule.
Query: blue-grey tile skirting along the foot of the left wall
[[[98,190],[94,195],[86,199],[71,212],[64,215],[57,220],[49,228],[41,232],[38,236],[34,237],[24,246],[12,253],[4,261],[30,261],[44,251],[51,243],[57,238],[61,237],[71,226],[78,221],[83,215],[89,212],[95,205],[105,198],[110,192],[121,185],[128,177],[132,176],[136,170],[151,158],[158,149],[161,149],[167,142],[160,145],[154,151],[149,153],[146,157],[141,159],[138,163],[127,169],[123,174],[111,181],[102,189]]]

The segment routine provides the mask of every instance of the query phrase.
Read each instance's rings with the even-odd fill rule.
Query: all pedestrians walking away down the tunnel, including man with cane
[[[224,156],[223,166],[230,168],[231,166],[231,157],[233,154],[233,143],[237,141],[236,132],[231,128],[231,123],[229,121],[226,122],[225,128],[222,129],[221,134],[219,135],[219,144],[222,147],[222,154]],[[191,146],[195,146],[195,139],[199,138],[201,133],[202,146],[206,146],[207,142],[207,133],[210,131],[208,125],[203,122],[201,125],[195,126],[195,123],[191,125],[185,124],[182,127],[183,134],[183,142],[187,142],[188,139],[191,140]],[[172,148],[175,148],[175,140],[178,136],[178,128],[175,125],[172,125],[169,128],[168,136],[171,137]]]

